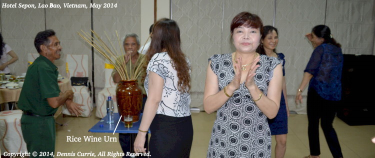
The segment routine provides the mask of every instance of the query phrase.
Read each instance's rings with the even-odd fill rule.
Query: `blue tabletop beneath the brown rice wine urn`
[[[89,132],[99,132],[99,133],[113,133],[114,129],[116,128],[115,133],[138,133],[138,128],[140,125],[140,121],[142,120],[142,114],[140,113],[139,120],[136,122],[133,122],[132,127],[125,127],[125,123],[120,121],[118,123],[118,126],[116,128],[118,119],[120,118],[120,115],[118,113],[113,113],[113,120],[114,122],[112,124],[108,124],[107,117],[104,116],[101,118],[95,125],[93,125],[90,129],[88,129]],[[102,124],[102,127],[100,127],[100,124]],[[150,133],[150,130],[148,129],[148,133]]]

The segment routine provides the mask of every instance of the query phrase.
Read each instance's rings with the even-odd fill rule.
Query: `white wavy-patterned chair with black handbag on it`
[[[66,55],[66,74],[67,78],[70,77],[87,77],[88,76],[88,56],[87,55]],[[83,104],[81,108],[83,112],[79,115],[82,117],[88,117],[91,115],[92,103],[91,103],[91,93],[90,89],[84,85],[74,85],[72,86],[74,92],[73,101],[76,103]],[[62,113],[71,115],[66,105],[62,106]]]

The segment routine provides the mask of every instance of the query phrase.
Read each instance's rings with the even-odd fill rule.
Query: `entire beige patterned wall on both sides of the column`
[[[91,48],[76,34],[80,29],[93,29],[104,36],[106,31],[115,40],[114,31],[122,37],[134,32],[140,35],[140,0],[92,0],[93,3],[117,3],[117,8],[0,8],[0,28],[4,41],[19,59],[10,65],[11,72],[20,75],[27,68],[27,53],[36,53],[35,34],[45,28],[56,31],[63,47],[62,58],[55,64],[66,76],[65,54],[88,54]],[[153,1],[153,0],[150,0]],[[168,0],[158,0],[168,2]],[[240,11],[258,14],[265,25],[279,30],[278,52],[286,56],[286,84],[290,110],[305,113],[305,102],[294,104],[294,94],[302,79],[303,69],[313,50],[303,36],[317,24],[326,24],[342,44],[345,54],[373,54],[375,44],[375,0],[170,0],[171,18],[180,26],[182,49],[191,61],[191,106],[202,108],[207,58],[215,53],[234,51],[229,25]],[[0,0],[0,3],[26,3],[24,0]],[[91,0],[27,0],[27,3],[87,4]],[[158,2],[158,6],[159,6]],[[162,5],[162,4],[161,4]],[[160,5],[160,6],[161,6]],[[275,13],[274,13],[275,10]],[[148,24],[147,24],[148,25]],[[148,25],[149,26],[149,25]],[[146,26],[148,28],[148,26]],[[143,27],[143,26],[142,26]],[[143,32],[143,31],[142,31]],[[106,39],[106,37],[105,37]],[[145,39],[141,39],[144,41]],[[118,48],[118,46],[117,46]],[[104,86],[104,59],[94,52],[96,92]],[[91,60],[88,62],[91,67]],[[89,72],[91,79],[91,71]],[[306,95],[307,90],[303,94]],[[304,101],[306,99],[304,98]]]

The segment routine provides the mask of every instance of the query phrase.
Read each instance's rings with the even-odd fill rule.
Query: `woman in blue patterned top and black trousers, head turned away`
[[[303,79],[295,102],[302,102],[302,90],[308,83],[307,119],[310,155],[319,157],[319,119],[325,139],[333,157],[342,157],[336,131],[332,126],[335,106],[341,99],[341,70],[343,55],[341,45],[334,40],[326,25],[316,25],[306,37],[315,48],[304,69]]]

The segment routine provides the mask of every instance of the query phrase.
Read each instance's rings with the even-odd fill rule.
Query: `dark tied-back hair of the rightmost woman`
[[[316,25],[312,28],[311,32],[313,32],[317,37],[323,38],[323,43],[333,44],[337,47],[341,47],[341,44],[337,43],[336,40],[333,38],[328,26],[323,24]]]

